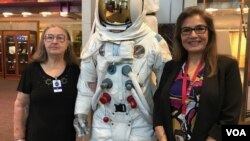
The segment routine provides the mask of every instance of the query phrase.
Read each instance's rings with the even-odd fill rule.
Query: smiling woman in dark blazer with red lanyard
[[[242,85],[236,60],[217,55],[212,18],[197,7],[178,17],[173,60],[154,95],[159,141],[220,141],[221,126],[237,124]]]

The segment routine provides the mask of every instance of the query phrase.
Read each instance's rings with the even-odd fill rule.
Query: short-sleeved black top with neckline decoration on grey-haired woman
[[[26,141],[75,141],[73,119],[79,73],[77,65],[67,65],[55,79],[37,62],[25,69],[17,90],[30,95]],[[61,92],[54,92],[53,80],[60,81]]]

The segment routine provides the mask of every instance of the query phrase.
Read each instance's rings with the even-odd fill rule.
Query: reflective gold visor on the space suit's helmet
[[[99,0],[99,16],[110,25],[127,25],[130,19],[130,0]]]

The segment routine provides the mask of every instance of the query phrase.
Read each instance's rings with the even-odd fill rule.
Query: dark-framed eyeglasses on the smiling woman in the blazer
[[[207,26],[205,25],[197,25],[195,27],[183,27],[181,28],[181,34],[190,35],[192,31],[194,31],[196,34],[204,34],[206,30],[207,30]]]

